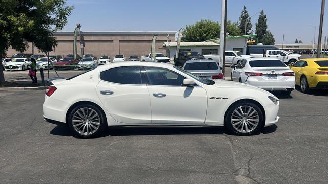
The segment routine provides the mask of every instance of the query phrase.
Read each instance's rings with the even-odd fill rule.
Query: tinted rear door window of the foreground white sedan
[[[101,72],[100,79],[118,84],[141,84],[140,66],[111,68]]]

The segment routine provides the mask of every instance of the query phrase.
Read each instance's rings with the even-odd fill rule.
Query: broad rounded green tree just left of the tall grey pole
[[[220,33],[219,22],[214,22],[212,20],[197,21],[196,24],[187,25],[183,30],[182,41],[185,42],[198,42],[205,41],[209,39],[217,38]]]

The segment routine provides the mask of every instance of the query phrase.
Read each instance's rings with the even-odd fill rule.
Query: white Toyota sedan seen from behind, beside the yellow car
[[[276,58],[246,58],[231,66],[231,80],[265,90],[290,95],[295,89],[295,74]]]

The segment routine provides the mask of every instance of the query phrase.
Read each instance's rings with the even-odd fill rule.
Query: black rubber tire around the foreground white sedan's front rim
[[[243,107],[246,107],[246,106],[252,107],[256,111],[257,116],[258,116],[258,123],[250,131],[248,131],[248,132],[246,132],[246,131],[245,132],[241,132],[241,131],[238,131],[236,128],[234,128],[234,126],[232,125],[233,124],[233,122],[232,122],[232,117],[233,117],[232,114],[233,114],[233,112],[236,109],[239,109],[239,107],[242,107],[243,108]],[[247,112],[247,109],[245,109],[244,111]],[[251,116],[253,116],[253,115],[254,114],[252,114]],[[243,124],[243,123],[244,122],[241,122],[240,124]],[[230,132],[232,132],[233,134],[236,134],[236,135],[251,135],[251,134],[255,134],[255,133],[257,133],[263,127],[263,123],[264,123],[263,112],[260,109],[260,107],[258,105],[256,105],[255,103],[253,103],[253,102],[240,102],[240,103],[234,104],[233,106],[231,106],[228,109],[227,115],[226,115],[226,117],[224,119],[224,127],[226,127]],[[247,123],[244,123],[244,125],[245,124],[251,125],[248,122]],[[239,124],[237,124],[237,125],[239,125]],[[245,125],[245,127],[247,125]],[[241,125],[241,126],[243,126],[243,125]]]

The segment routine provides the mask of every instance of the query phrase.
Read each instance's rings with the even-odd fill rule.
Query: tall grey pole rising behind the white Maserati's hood
[[[220,66],[224,75],[226,67],[226,21],[227,21],[227,0],[222,0],[221,8],[221,32],[220,32]]]

